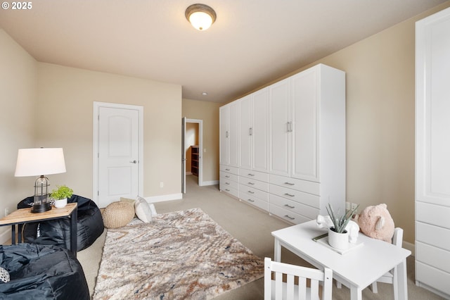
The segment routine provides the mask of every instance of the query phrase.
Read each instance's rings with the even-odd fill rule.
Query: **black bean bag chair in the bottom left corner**
[[[82,265],[67,249],[0,245],[0,266],[10,277],[9,282],[0,282],[0,299],[89,299]]]

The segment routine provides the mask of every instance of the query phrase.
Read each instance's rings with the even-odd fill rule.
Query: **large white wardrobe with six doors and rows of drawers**
[[[220,189],[290,223],[345,211],[345,73],[319,64],[220,108]]]

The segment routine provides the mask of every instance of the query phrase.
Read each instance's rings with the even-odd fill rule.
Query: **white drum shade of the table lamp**
[[[65,173],[63,148],[19,149],[16,177]]]

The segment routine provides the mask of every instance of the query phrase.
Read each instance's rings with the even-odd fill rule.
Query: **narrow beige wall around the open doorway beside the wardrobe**
[[[219,107],[214,102],[183,99],[182,114],[203,120],[203,182],[219,180]]]

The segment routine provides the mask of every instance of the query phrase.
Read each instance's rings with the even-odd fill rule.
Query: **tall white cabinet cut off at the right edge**
[[[416,23],[416,285],[450,299],[450,8]]]

